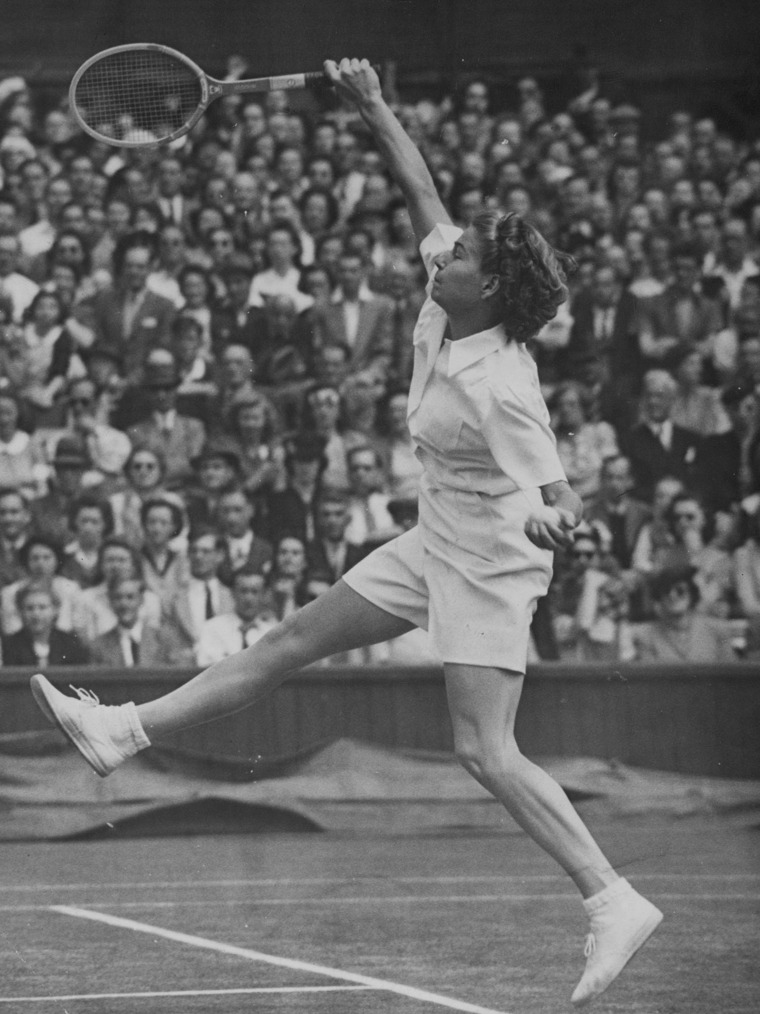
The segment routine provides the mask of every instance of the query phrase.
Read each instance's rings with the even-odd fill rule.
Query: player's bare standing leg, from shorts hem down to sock
[[[447,664],[446,693],[462,766],[573,877],[584,897],[617,880],[557,783],[515,742],[523,675],[479,665]]]

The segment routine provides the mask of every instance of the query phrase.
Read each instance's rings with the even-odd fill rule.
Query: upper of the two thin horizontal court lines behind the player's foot
[[[637,873],[630,874],[635,880],[760,880],[760,873]],[[137,880],[106,883],[71,883],[71,884],[0,884],[2,891],[35,891],[35,890],[151,890],[173,889],[183,887],[302,887],[360,883],[399,883],[399,884],[458,884],[458,883],[537,883],[565,882],[566,876],[561,874],[504,874],[501,876],[461,876],[461,877],[268,877],[249,880]]]

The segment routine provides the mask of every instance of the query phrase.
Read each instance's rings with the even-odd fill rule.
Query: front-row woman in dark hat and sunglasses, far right
[[[696,611],[699,588],[691,567],[653,574],[650,596],[657,619],[632,630],[637,662],[735,662],[731,624]]]

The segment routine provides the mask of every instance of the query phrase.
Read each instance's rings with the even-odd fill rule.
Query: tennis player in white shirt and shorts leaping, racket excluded
[[[425,466],[420,523],[255,645],[163,698],[105,707],[86,691],[65,696],[41,675],[32,692],[105,776],[150,738],[245,708],[319,658],[414,626],[429,630],[461,764],[585,899],[588,960],[572,998],[581,1005],[610,985],[662,915],[610,867],[561,788],[514,736],[531,617],[552,551],[572,542],[581,520],[525,348],[566,297],[561,258],[515,214],[487,211],[456,228],[368,61],[324,67],[401,188],[430,277],[408,404]]]

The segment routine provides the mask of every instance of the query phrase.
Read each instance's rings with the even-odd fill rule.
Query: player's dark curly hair
[[[567,274],[576,263],[514,212],[480,212],[472,226],[480,240],[481,271],[499,276],[507,334],[527,342],[567,298]]]

